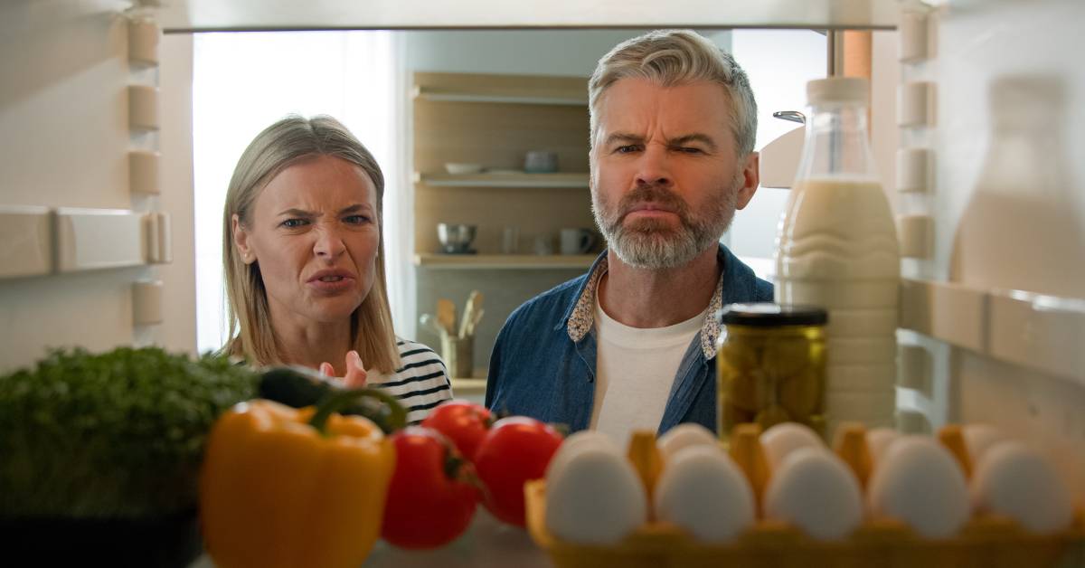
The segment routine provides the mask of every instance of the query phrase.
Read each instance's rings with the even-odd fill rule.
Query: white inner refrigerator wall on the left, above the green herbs
[[[0,206],[162,211],[174,264],[0,279],[0,373],[52,346],[192,350],[189,38],[161,46],[162,193],[128,189],[127,21],[115,1],[0,2]],[[176,160],[175,160],[176,159]],[[17,250],[7,254],[18,254]],[[132,288],[165,282],[164,323],[132,324]]]

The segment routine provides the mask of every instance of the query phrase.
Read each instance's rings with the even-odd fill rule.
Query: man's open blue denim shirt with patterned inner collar
[[[605,258],[603,251],[587,274],[528,300],[509,316],[489,358],[487,407],[564,424],[574,432],[588,427],[596,395],[596,330],[590,319],[590,327],[577,326],[585,321],[584,312],[595,308]],[[773,285],[754,276],[723,244],[717,258],[723,274],[713,304],[773,301]],[[716,430],[715,317],[710,305],[709,320],[678,365],[659,434],[680,422]]]

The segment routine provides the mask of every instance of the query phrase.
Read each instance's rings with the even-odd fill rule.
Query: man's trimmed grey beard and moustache
[[[719,242],[719,237],[735,218],[738,189],[742,182],[739,171],[730,188],[722,188],[719,199],[713,202],[706,215],[695,217],[686,202],[668,189],[644,186],[627,193],[617,211],[608,211],[599,198],[591,195],[591,213],[607,243],[621,261],[635,268],[677,268],[689,264],[705,249]],[[658,194],[662,203],[676,210],[680,226],[672,229],[658,219],[640,219],[633,227],[622,225],[626,207],[641,201],[638,195]]]

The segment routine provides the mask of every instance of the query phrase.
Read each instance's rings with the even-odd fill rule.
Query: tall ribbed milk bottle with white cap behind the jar
[[[829,311],[831,437],[842,421],[894,425],[901,263],[867,134],[869,83],[818,79],[806,93],[805,146],[777,235],[776,301]]]

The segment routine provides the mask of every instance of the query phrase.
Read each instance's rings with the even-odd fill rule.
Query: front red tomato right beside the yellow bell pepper
[[[462,534],[478,501],[471,463],[436,430],[412,426],[391,438],[396,469],[381,537],[401,548],[435,548]]]

